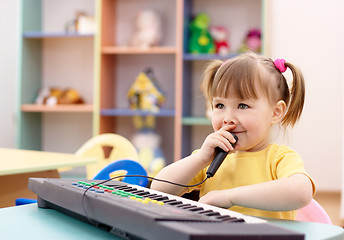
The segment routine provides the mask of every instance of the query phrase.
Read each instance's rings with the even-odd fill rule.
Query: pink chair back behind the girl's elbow
[[[332,224],[326,211],[314,199],[307,206],[297,210],[296,220]]]

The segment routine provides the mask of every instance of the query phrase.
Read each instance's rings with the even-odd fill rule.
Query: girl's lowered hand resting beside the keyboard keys
[[[208,192],[199,199],[199,202],[221,208],[230,208],[234,204],[231,201],[230,190],[214,190]]]

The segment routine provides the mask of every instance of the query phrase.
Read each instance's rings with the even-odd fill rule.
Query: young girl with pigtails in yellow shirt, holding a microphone
[[[283,72],[293,74],[291,90]],[[273,126],[294,126],[305,97],[301,72],[283,59],[247,53],[225,62],[215,60],[205,70],[203,92],[212,107],[212,126],[201,148],[162,169],[157,178],[193,185],[207,177],[219,147],[229,152],[214,177],[197,187],[153,181],[151,188],[182,195],[195,188],[200,202],[246,215],[295,219],[315,192],[299,154],[271,143]],[[235,142],[232,134],[238,137]]]

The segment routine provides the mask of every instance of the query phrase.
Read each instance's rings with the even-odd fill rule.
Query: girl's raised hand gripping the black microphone
[[[231,143],[235,143],[235,138],[230,133],[231,126],[224,126],[220,130],[209,134],[204,140],[201,149],[196,153],[199,159],[210,164],[214,157],[215,148],[222,148],[225,152],[234,152]]]

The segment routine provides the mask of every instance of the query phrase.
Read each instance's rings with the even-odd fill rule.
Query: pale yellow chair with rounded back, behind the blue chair
[[[104,150],[106,147],[110,148],[108,157]],[[92,179],[101,169],[115,160],[138,160],[138,153],[134,145],[125,137],[114,133],[104,133],[91,138],[75,154],[98,158],[96,163],[86,166],[88,179]]]

